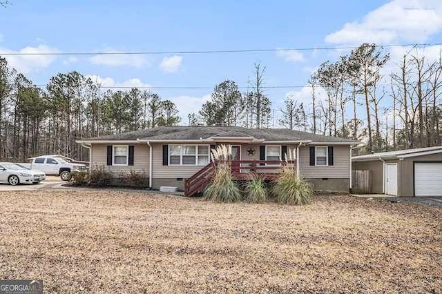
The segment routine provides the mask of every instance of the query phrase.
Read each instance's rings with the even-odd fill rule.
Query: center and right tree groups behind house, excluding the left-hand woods
[[[394,64],[374,43],[320,64],[309,79],[311,96],[288,95],[278,109],[283,128],[365,141],[359,153],[442,144],[442,52],[412,48]],[[390,61],[390,63],[389,63]],[[251,92],[234,81],[215,87],[191,124],[269,127],[271,102],[262,92],[265,68],[255,65]],[[322,97],[320,97],[322,94]]]

